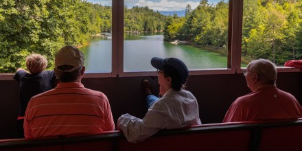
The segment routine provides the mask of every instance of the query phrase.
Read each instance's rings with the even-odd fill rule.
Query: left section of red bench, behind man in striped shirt
[[[2,139],[0,150],[34,150],[34,151],[63,151],[63,150],[114,150],[113,139],[121,137],[119,130],[101,132],[95,135],[73,135],[71,137],[45,137],[35,139]]]

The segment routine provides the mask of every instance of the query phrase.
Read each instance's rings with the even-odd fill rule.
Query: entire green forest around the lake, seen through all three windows
[[[277,65],[302,59],[302,1],[244,0],[242,60],[268,58]],[[82,0],[2,0],[0,73],[25,68],[25,57],[43,54],[54,69],[54,54],[64,45],[87,45],[111,32],[111,6]],[[163,32],[165,41],[185,40],[227,51],[229,3],[185,8],[185,16],[164,16],[148,7],[124,7],[124,32]]]

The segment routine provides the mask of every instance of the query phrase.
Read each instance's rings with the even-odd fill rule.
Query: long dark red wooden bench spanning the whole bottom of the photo
[[[301,150],[302,119],[204,124],[161,130],[140,143],[129,143],[114,130],[95,135],[0,140],[0,150]]]

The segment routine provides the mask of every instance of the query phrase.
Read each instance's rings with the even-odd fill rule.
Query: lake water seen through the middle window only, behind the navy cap
[[[141,36],[124,41],[125,71],[154,71],[152,57],[174,57],[185,62],[189,69],[227,68],[227,56],[191,45],[173,45],[163,42],[162,35]]]

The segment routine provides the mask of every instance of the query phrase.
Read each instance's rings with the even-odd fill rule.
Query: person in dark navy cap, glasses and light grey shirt
[[[185,63],[177,58],[157,58],[151,60],[159,78],[159,97],[146,93],[148,112],[143,119],[124,114],[117,120],[117,128],[124,132],[132,143],[143,141],[161,129],[183,128],[201,124],[196,98],[183,86],[189,71]],[[148,86],[148,80],[143,80]]]

